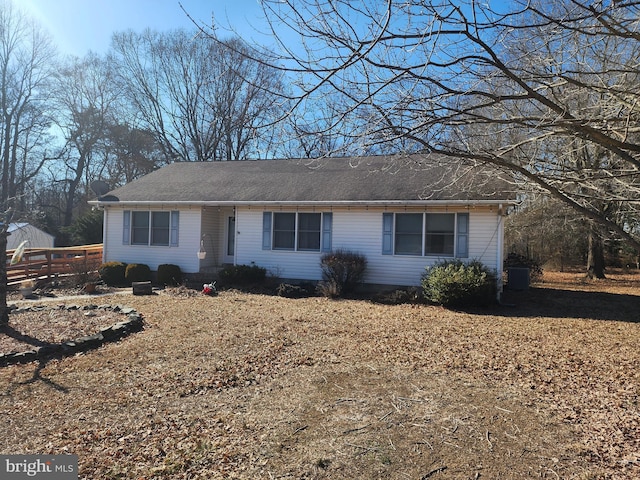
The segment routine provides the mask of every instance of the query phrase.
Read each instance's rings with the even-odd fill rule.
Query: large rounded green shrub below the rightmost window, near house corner
[[[446,307],[487,306],[496,300],[496,276],[477,260],[446,260],[427,267],[422,290],[429,302]]]

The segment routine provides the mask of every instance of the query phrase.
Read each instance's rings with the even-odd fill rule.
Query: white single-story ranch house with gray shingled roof
[[[180,162],[91,203],[104,209],[105,262],[186,274],[255,264],[316,281],[320,257],[347,249],[366,256],[366,283],[410,286],[443,259],[502,270],[503,219],[516,199],[507,180],[421,154]]]

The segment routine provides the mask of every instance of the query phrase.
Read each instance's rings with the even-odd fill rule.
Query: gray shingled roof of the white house
[[[173,163],[99,202],[509,202],[513,185],[488,166],[433,155]]]

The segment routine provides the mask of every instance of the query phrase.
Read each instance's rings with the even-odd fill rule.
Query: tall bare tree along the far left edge
[[[0,328],[8,324],[6,248],[12,213],[42,167],[49,125],[49,37],[8,1],[0,2]]]

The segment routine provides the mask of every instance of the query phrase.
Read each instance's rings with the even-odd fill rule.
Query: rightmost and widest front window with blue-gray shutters
[[[468,256],[469,214],[384,213],[384,255]]]

